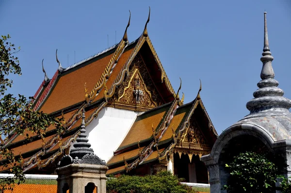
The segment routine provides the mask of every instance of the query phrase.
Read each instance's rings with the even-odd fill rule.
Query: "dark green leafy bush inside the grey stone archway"
[[[230,171],[228,193],[273,193],[275,190],[275,164],[264,155],[254,152],[240,153],[226,167]]]

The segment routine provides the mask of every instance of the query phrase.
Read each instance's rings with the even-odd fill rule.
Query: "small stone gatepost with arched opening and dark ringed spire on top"
[[[57,193],[106,193],[105,161],[94,155],[85,130],[85,110],[82,111],[81,130],[70,155],[65,155],[58,164]],[[74,159],[73,159],[73,158]]]

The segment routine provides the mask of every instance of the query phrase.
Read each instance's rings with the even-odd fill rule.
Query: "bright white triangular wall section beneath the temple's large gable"
[[[111,107],[103,108],[96,119],[86,126],[86,135],[94,153],[108,161],[121,144],[138,112]],[[71,145],[70,148],[72,148]]]

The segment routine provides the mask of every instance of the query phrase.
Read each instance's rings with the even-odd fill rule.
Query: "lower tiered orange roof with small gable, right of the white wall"
[[[200,94],[198,93],[194,101],[188,104],[181,105],[179,101],[174,99],[170,103],[138,115],[127,136],[108,161],[107,175],[130,172],[139,165],[165,160],[170,152],[173,152],[174,147],[182,145],[187,138],[191,119],[197,122],[196,128],[200,126],[195,137],[202,137],[207,141],[197,143],[199,148],[196,154],[207,154],[217,138],[217,133]],[[206,123],[208,125],[203,125]],[[205,152],[203,145],[209,147]],[[190,149],[190,146],[186,148]]]

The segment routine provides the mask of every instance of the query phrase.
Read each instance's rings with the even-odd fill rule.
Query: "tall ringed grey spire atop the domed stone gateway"
[[[283,97],[284,91],[277,86],[279,82],[274,79],[275,73],[272,67],[274,57],[271,55],[267,31],[267,12],[264,12],[264,48],[262,57],[263,63],[260,78],[257,86],[259,89],[254,92],[255,98],[246,103],[246,108],[252,113],[289,113],[291,100]]]

